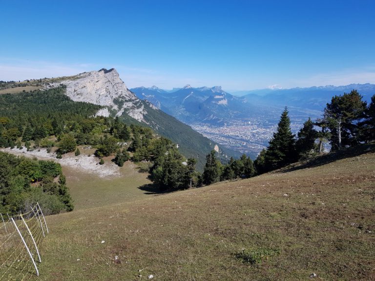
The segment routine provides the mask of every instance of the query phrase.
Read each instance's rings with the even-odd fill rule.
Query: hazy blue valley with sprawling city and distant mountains
[[[130,89],[157,108],[181,120],[219,144],[255,156],[268,145],[280,115],[288,107],[292,131],[296,133],[310,117],[320,118],[333,96],[356,89],[364,100],[375,93],[375,84],[314,86],[292,89],[260,89],[235,92],[220,86],[173,90],[156,86]]]

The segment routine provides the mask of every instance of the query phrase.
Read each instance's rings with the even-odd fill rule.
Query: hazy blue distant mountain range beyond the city
[[[253,90],[242,97],[233,96],[223,91],[220,86],[193,88],[187,85],[172,92],[156,86],[130,90],[138,98],[148,100],[183,122],[223,125],[233,120],[247,120],[259,116],[272,122],[275,109],[285,106],[290,108],[292,115],[309,117],[311,114],[319,114],[333,96],[349,93],[353,89],[358,90],[364,100],[368,101],[375,94],[375,84],[370,83]]]

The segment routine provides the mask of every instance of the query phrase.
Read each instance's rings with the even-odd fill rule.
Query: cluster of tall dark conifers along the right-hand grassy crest
[[[371,103],[362,100],[353,90],[334,96],[324,109],[323,117],[313,122],[310,118],[298,132],[292,134],[291,120],[285,108],[269,146],[254,161],[258,174],[322,152],[323,142],[330,142],[331,151],[375,140],[375,95]],[[315,130],[314,126],[320,127]]]

